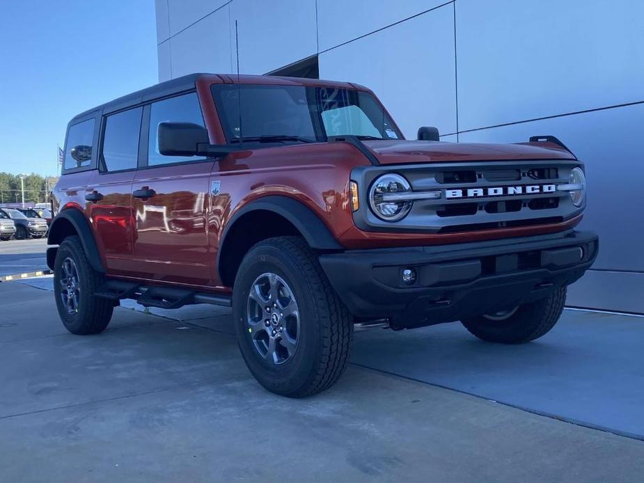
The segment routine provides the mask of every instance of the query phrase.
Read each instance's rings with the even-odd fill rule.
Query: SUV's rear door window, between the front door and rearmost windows
[[[107,116],[101,153],[104,171],[136,168],[142,112],[143,108],[137,107]]]

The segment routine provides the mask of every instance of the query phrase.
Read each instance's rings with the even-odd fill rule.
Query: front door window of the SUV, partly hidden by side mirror
[[[203,159],[195,156],[162,156],[159,154],[159,139],[157,128],[159,122],[193,122],[203,124],[201,107],[196,93],[171,97],[170,99],[152,103],[150,106],[150,138],[148,141],[148,166],[158,164],[180,163]]]

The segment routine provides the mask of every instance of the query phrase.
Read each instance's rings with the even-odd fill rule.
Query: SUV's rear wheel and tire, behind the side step
[[[109,324],[113,302],[94,295],[102,283],[103,276],[89,264],[79,237],[65,238],[54,262],[54,296],[58,315],[72,334],[99,333]]]

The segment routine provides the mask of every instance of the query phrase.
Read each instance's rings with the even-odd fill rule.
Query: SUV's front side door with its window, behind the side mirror
[[[132,184],[133,266],[142,278],[211,285],[206,223],[212,159],[159,154],[159,122],[204,125],[196,93],[146,107],[146,159]]]

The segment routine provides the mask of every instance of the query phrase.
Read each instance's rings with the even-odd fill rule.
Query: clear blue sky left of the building
[[[56,173],[77,113],[156,84],[154,0],[0,2],[0,171]]]

